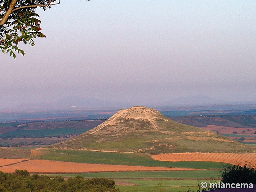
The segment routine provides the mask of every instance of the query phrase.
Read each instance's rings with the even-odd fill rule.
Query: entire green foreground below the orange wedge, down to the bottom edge
[[[83,174],[50,174],[49,176],[75,177],[80,175],[84,178],[108,178],[116,181],[116,188],[121,192],[134,191],[196,191],[198,183],[206,181],[210,183],[212,178],[221,175],[216,170],[200,171],[148,171],[148,172],[102,172]],[[188,187],[189,186],[189,187]]]

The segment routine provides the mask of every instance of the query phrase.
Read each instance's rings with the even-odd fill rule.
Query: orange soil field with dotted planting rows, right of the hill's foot
[[[158,161],[213,161],[236,165],[256,165],[256,153],[169,153],[152,155]]]

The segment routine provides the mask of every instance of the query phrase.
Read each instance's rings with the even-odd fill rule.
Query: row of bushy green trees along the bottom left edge
[[[0,192],[118,192],[115,181],[105,178],[84,180],[76,176],[68,180],[62,177],[49,178],[47,175],[29,175],[27,170],[14,173],[0,172]]]

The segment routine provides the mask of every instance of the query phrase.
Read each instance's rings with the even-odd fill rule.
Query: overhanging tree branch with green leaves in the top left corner
[[[14,52],[25,54],[18,48],[20,42],[33,47],[35,38],[45,38],[40,32],[41,21],[36,8],[45,11],[56,4],[60,4],[60,0],[0,0],[0,50],[10,52],[15,59]]]

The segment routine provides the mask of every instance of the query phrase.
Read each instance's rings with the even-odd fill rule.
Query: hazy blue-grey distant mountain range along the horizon
[[[239,102],[239,104],[249,104],[256,102]],[[235,102],[229,102],[224,100],[216,100],[204,95],[179,97],[174,100],[166,102],[146,104],[141,103],[139,105],[146,106],[173,106],[173,107],[185,107],[185,106],[203,106],[203,105],[222,105],[222,104],[238,104]],[[125,102],[110,102],[107,100],[101,100],[97,98],[83,98],[83,97],[63,97],[56,102],[42,102],[42,103],[25,103],[11,110],[75,110],[75,109],[109,109],[109,108],[129,108],[138,103],[125,103]]]

